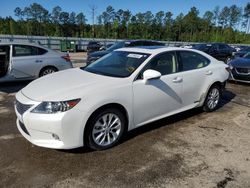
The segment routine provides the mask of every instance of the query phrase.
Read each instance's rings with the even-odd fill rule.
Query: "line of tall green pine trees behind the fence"
[[[0,34],[250,43],[247,32],[250,30],[250,3],[245,7],[217,6],[202,16],[192,7],[186,15],[180,13],[176,17],[170,11],[132,14],[130,10],[116,11],[108,6],[93,17],[93,24],[87,22],[84,13],[65,12],[60,6],[49,12],[33,3],[23,9],[17,7],[14,13],[15,19],[0,17]]]

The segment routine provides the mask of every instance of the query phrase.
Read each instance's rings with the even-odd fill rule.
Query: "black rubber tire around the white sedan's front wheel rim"
[[[118,117],[119,118],[119,120],[120,120],[120,132],[119,132],[119,134],[118,134],[118,136],[117,136],[117,138],[112,142],[112,143],[110,143],[110,144],[107,144],[107,145],[100,145],[100,144],[98,144],[96,141],[95,141],[95,134],[93,133],[94,131],[94,127],[96,127],[95,125],[96,125],[96,123],[97,122],[100,122],[101,120],[103,120],[103,119],[101,119],[103,116],[105,116],[105,115],[107,115],[107,114],[114,114],[115,116],[114,117]],[[109,116],[110,117],[110,116]],[[112,118],[110,118],[110,119],[112,119]],[[106,121],[107,122],[107,121]],[[125,119],[125,116],[124,116],[124,114],[123,113],[121,113],[121,111],[120,110],[118,110],[118,109],[116,109],[116,108],[107,108],[107,109],[104,109],[104,110],[102,110],[102,111],[99,111],[99,112],[97,112],[97,113],[95,113],[92,117],[91,117],[91,119],[88,121],[88,124],[86,125],[87,127],[86,127],[86,130],[85,130],[85,134],[84,134],[84,137],[85,137],[85,143],[86,143],[86,145],[89,147],[89,148],[91,148],[91,149],[93,149],[93,150],[105,150],[105,149],[108,149],[108,148],[111,148],[111,147],[113,147],[113,146],[115,146],[116,144],[118,144],[119,143],[119,141],[121,140],[121,138],[122,138],[122,136],[123,136],[123,133],[124,133],[124,129],[125,129],[125,127],[126,127],[126,119]],[[103,129],[103,127],[102,127],[102,129]],[[103,135],[103,137],[101,137],[101,138],[104,138],[104,137],[106,137],[106,138],[104,138],[104,142],[105,141],[107,141],[108,142],[108,140],[107,140],[107,137],[110,137],[111,138],[111,136],[113,135],[113,134],[111,134],[110,133],[110,131],[112,131],[111,129],[112,128],[109,128],[110,130],[109,131],[105,131],[105,133],[104,134],[106,134],[106,136],[105,135]],[[95,129],[95,130],[97,130],[97,129]],[[96,133],[96,134],[99,134],[99,133]],[[107,134],[109,134],[109,136],[107,136]],[[97,137],[98,137],[98,135],[97,135]],[[113,137],[114,138],[114,137]],[[101,139],[100,139],[101,140]]]

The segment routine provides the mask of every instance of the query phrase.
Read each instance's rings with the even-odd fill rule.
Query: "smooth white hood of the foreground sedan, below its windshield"
[[[65,101],[100,93],[111,85],[119,85],[118,82],[121,82],[121,78],[102,76],[75,68],[39,78],[21,92],[34,101]]]

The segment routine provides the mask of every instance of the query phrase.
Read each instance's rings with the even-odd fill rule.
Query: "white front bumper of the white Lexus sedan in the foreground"
[[[88,114],[77,108],[56,114],[39,114],[31,111],[40,102],[33,101],[21,92],[16,95],[21,105],[30,105],[20,113],[20,106],[15,104],[17,128],[31,143],[53,149],[72,149],[83,146],[83,132]],[[19,104],[19,105],[20,105]],[[86,118],[84,118],[86,117]]]

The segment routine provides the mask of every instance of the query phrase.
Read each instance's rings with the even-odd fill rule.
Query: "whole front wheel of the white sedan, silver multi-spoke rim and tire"
[[[94,150],[104,150],[116,145],[125,127],[124,115],[115,108],[95,114],[86,129],[86,145]]]

